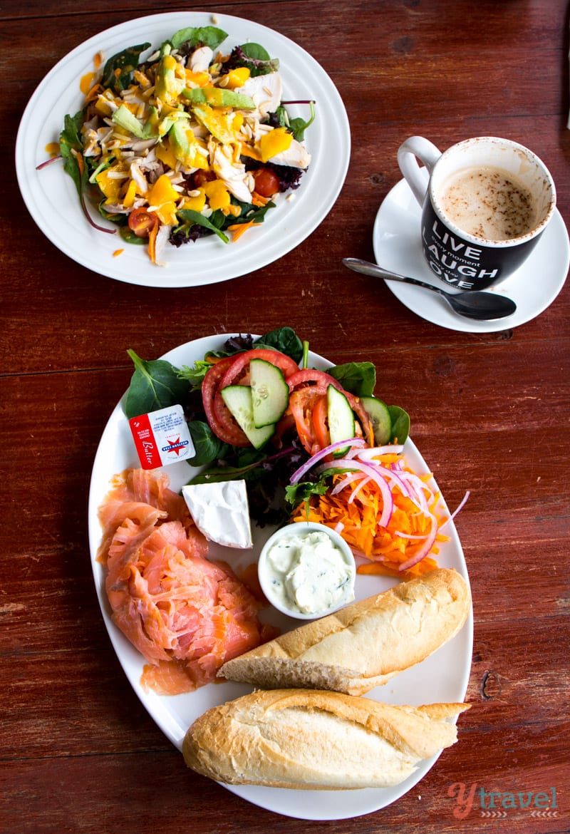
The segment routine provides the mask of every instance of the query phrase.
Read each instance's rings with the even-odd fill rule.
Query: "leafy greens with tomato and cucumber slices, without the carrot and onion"
[[[289,327],[258,339],[232,337],[192,367],[128,354],[135,369],[127,417],[182,404],[196,449],[188,463],[202,468],[191,483],[244,479],[250,515],[260,525],[288,520],[299,501],[327,489],[334,457],[346,450],[338,441],[399,448],[408,437],[407,412],[373,394],[371,362],[313,369],[308,344]],[[335,442],[326,472],[291,483],[300,466]]]

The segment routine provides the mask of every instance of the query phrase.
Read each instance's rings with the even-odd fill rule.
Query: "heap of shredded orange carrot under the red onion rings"
[[[398,455],[382,455],[378,463],[390,465],[397,458]],[[383,514],[382,492],[373,479],[362,475],[334,475],[333,484],[327,492],[312,495],[308,504],[303,502],[298,505],[292,520],[316,521],[337,530],[355,556],[364,557],[372,563],[360,565],[358,573],[381,573],[409,579],[437,567],[433,556],[438,554],[438,543],[448,540],[438,530],[429,553],[403,570],[403,565],[413,561],[414,555],[419,555],[426,542],[433,538],[433,525],[439,528],[441,495],[429,489],[427,481],[430,478],[431,475],[421,475],[418,480],[418,484],[423,485],[428,512],[423,512],[398,485],[391,486],[393,510],[385,527],[379,525]],[[343,488],[333,494],[334,488],[343,480]]]

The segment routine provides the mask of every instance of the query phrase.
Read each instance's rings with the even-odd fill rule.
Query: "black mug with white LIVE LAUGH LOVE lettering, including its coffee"
[[[457,289],[485,289],[511,275],[556,208],[556,188],[544,163],[508,139],[466,139],[441,153],[428,139],[413,136],[398,149],[398,164],[422,206],[428,265]]]

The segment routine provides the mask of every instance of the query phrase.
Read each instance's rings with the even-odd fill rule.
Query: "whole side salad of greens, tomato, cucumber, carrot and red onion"
[[[189,483],[245,480],[259,525],[329,525],[363,557],[361,573],[437,566],[455,513],[431,475],[408,467],[408,413],[374,395],[372,363],[312,368],[308,343],[288,327],[232,337],[192,367],[128,354],[125,413],[183,405],[196,450],[188,463],[200,468]]]

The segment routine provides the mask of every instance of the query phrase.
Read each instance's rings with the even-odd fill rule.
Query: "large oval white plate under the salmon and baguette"
[[[203,339],[196,339],[170,350],[162,358],[168,359],[176,366],[193,365],[197,359],[203,359],[208,350],[222,349],[223,343],[229,335],[207,336]],[[313,367],[322,369],[331,365],[330,362],[317,354],[310,354],[309,362]],[[153,720],[173,742],[173,745],[181,750],[188,726],[198,716],[201,716],[212,706],[231,701],[233,698],[252,691],[252,687],[232,682],[226,682],[222,685],[208,684],[208,686],[203,686],[195,692],[178,696],[158,696],[152,692],[144,691],[140,685],[144,665],[143,656],[112,623],[111,610],[105,592],[105,569],[96,558],[102,532],[97,519],[97,507],[109,490],[109,481],[112,475],[122,472],[128,467],[139,465],[128,427],[128,420],[122,409],[124,399],[123,396],[107,422],[92,469],[88,509],[92,570],[102,616],[118,660],[134,691],[153,717]],[[428,472],[422,456],[411,440],[408,440],[406,444],[406,456],[409,465],[414,470],[420,473]],[[168,465],[166,471],[170,477],[170,485],[173,490],[180,490],[196,472],[184,462]],[[256,525],[252,526],[253,551],[231,550],[227,547],[210,544],[210,557],[226,560],[234,568],[243,567],[257,560],[265,540],[274,528],[265,527],[261,529]],[[468,581],[463,550],[453,522],[448,524],[446,531],[450,538],[441,547],[438,564],[442,567],[455,568]],[[356,598],[361,600],[382,590],[387,590],[395,584],[395,581],[383,576],[357,576]],[[299,625],[298,620],[278,614],[275,610],[266,612],[264,619],[279,625],[283,631],[289,631]],[[468,622],[453,640],[442,646],[441,649],[418,666],[393,678],[386,686],[377,687],[369,692],[367,697],[376,701],[412,706],[419,706],[424,703],[463,701],[471,669],[472,649],[473,615],[469,615]],[[458,743],[462,743],[461,739]],[[438,756],[433,756],[433,758],[423,761],[413,776],[394,788],[370,788],[359,791],[291,791],[263,786],[225,787],[238,794],[238,796],[242,796],[243,799],[253,802],[254,805],[283,814],[283,816],[308,820],[347,819],[371,811],[378,811],[379,808],[390,805],[413,788],[428,773],[437,759]]]

